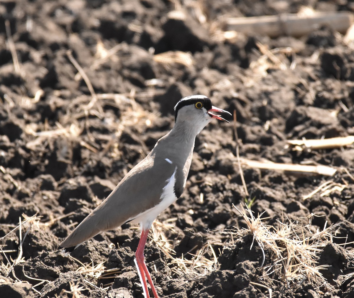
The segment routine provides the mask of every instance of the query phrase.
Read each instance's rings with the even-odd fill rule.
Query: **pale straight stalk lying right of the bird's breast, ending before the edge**
[[[313,173],[318,175],[333,176],[336,173],[336,169],[333,169],[329,166],[323,165],[295,165],[295,164],[279,164],[275,162],[262,162],[248,159],[241,159],[242,165],[257,168],[257,169],[266,169],[266,170],[275,170],[275,171],[290,171],[290,172],[300,172],[300,173]]]

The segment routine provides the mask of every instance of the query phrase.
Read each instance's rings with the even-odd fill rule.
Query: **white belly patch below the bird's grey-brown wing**
[[[139,214],[131,223],[141,223],[143,230],[149,229],[155,220],[155,218],[164,211],[168,206],[177,200],[173,188],[175,187],[177,167],[173,172],[170,179],[166,180],[166,186],[162,189],[162,194],[160,197],[160,203],[155,205],[153,208],[145,210],[143,213]]]

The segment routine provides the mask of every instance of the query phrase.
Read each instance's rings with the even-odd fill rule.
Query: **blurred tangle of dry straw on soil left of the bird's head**
[[[149,95],[149,94],[146,94]],[[67,115],[65,115],[61,123],[56,122],[55,127],[49,127],[48,125],[37,125],[30,123],[25,127],[25,132],[31,134],[35,138],[26,144],[26,147],[31,150],[43,146],[48,139],[55,139],[58,137],[65,137],[70,142],[77,142],[82,147],[85,147],[97,153],[99,145],[97,140],[91,136],[88,123],[88,116],[96,116],[100,121],[104,122],[104,125],[112,131],[112,135],[109,136],[107,144],[105,144],[103,150],[100,150],[100,154],[103,156],[112,147],[114,142],[118,142],[123,131],[129,129],[136,129],[138,132],[153,125],[157,113],[149,112],[145,110],[140,104],[138,104],[133,97],[121,95],[121,94],[98,94],[94,99],[90,99],[89,96],[81,96],[73,100],[71,105],[78,105],[78,109],[74,111],[74,108],[69,108]],[[151,96],[151,94],[150,94]],[[116,121],[111,116],[101,113],[100,110],[103,104],[108,104],[121,108],[120,121]],[[101,108],[95,109],[94,106],[100,106]],[[78,119],[85,117],[85,121],[78,121]],[[143,124],[142,124],[143,123]],[[86,128],[87,138],[89,142],[83,140],[82,132]]]

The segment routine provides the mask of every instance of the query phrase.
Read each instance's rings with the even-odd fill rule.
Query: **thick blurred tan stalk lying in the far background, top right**
[[[353,22],[353,14],[347,11],[315,12],[312,16],[283,14],[278,16],[228,18],[226,30],[237,31],[247,35],[268,35],[273,38],[281,35],[301,37],[324,25],[334,31],[345,34]]]

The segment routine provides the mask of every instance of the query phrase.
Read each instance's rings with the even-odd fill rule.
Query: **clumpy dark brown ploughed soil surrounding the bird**
[[[304,6],[354,10],[347,0],[1,0],[0,297],[143,297],[137,227],[99,234],[72,256],[56,249],[192,94],[237,121],[213,120],[199,134],[185,191],[150,232],[160,297],[354,297],[354,148],[286,146],[354,134],[353,39],[328,26],[301,38],[223,34],[227,17]],[[337,171],[242,166],[241,175],[237,145],[240,158]],[[329,191],[303,199],[325,182]],[[316,241],[317,263],[307,265],[318,274],[288,275],[291,251],[254,239],[240,203],[264,212],[270,232],[284,223],[289,239]]]

